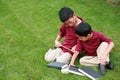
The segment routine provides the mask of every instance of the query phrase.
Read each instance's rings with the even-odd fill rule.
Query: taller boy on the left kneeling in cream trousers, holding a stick
[[[56,62],[69,63],[78,39],[75,34],[75,27],[83,22],[83,19],[77,17],[73,10],[68,7],[60,9],[59,19],[63,24],[55,40],[56,49],[49,50],[45,54],[45,60],[54,61],[56,59]],[[64,41],[61,43],[62,38]]]

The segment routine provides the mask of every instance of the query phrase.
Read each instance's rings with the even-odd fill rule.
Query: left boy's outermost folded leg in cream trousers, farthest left
[[[61,48],[56,49],[49,49],[48,52],[45,54],[45,61],[51,62],[54,61],[59,55],[63,53]]]

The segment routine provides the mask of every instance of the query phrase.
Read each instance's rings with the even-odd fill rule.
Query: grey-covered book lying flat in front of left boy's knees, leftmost
[[[63,69],[65,67],[67,67],[68,64],[61,63],[61,62],[50,62],[49,64],[47,64],[47,66],[52,67],[52,68],[57,68],[57,69]]]

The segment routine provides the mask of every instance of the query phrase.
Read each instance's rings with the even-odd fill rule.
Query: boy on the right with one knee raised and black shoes
[[[109,60],[109,53],[114,47],[111,39],[105,37],[101,32],[92,31],[91,26],[85,22],[76,27],[75,33],[79,40],[70,65],[74,65],[78,54],[84,50],[85,56],[79,60],[81,65],[99,65],[101,74],[105,74],[106,68],[113,69],[113,64]]]

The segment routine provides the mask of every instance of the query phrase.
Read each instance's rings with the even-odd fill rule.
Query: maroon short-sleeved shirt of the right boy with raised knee
[[[101,42],[110,43],[111,39],[105,37],[101,32],[93,32],[93,36],[89,41],[78,40],[76,51],[80,54],[85,51],[86,56],[97,56],[96,50]]]

